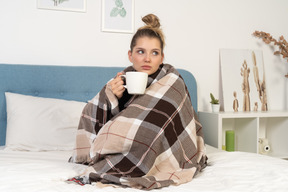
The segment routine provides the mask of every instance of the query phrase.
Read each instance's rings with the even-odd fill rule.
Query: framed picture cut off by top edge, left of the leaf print
[[[38,9],[86,12],[86,0],[37,0]]]

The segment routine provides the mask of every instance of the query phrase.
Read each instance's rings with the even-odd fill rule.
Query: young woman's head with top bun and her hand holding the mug
[[[138,29],[132,38],[128,57],[136,71],[152,75],[163,63],[164,35],[158,17],[149,14],[142,20],[146,25]],[[110,82],[111,89],[118,98],[121,98],[125,91],[120,75],[122,73],[118,73],[117,77]]]

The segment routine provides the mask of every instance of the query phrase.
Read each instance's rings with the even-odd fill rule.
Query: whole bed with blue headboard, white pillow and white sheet
[[[66,182],[86,168],[68,163],[81,109],[122,69],[0,64],[1,192],[139,191],[100,183],[80,186]],[[196,80],[186,70],[179,72],[197,109]],[[288,190],[287,160],[225,152],[209,145],[206,149],[208,166],[191,182],[157,191]]]

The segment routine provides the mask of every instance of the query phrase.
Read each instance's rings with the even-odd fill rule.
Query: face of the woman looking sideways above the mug
[[[151,75],[163,63],[160,41],[157,38],[140,37],[133,50],[128,52],[129,60],[136,71]]]

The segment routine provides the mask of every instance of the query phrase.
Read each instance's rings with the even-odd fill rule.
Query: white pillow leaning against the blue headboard
[[[72,150],[86,103],[5,93],[6,149]]]

